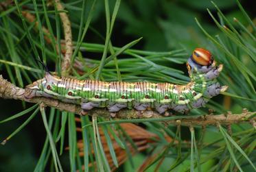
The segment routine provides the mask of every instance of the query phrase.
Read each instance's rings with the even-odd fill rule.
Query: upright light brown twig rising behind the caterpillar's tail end
[[[55,0],[56,8],[58,11],[63,11],[64,8],[60,3],[60,0]],[[72,43],[72,32],[71,32],[71,23],[69,21],[69,17],[65,12],[60,12],[60,19],[62,21],[64,36],[65,36],[65,44],[66,44],[66,53],[62,60],[61,70],[62,76],[69,75],[70,72],[70,62],[73,53],[73,43]]]

